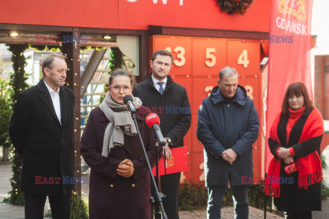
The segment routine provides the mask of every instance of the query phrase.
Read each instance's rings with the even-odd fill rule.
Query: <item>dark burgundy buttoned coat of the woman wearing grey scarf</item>
[[[156,164],[154,132],[145,123],[145,117],[150,111],[145,107],[141,108],[138,112],[143,114],[137,113],[136,120],[147,157],[153,168]],[[81,138],[81,154],[91,168],[89,217],[90,219],[150,218],[149,170],[138,136],[125,136],[124,146],[117,146],[111,150],[108,157],[103,157],[101,156],[103,136],[108,123],[106,116],[97,107],[90,112]],[[130,159],[134,164],[134,175],[130,178],[117,175],[116,169],[123,159]]]

